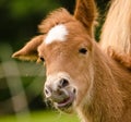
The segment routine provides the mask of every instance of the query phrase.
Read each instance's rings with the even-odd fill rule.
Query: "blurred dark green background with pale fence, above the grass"
[[[99,11],[96,40],[99,40],[108,1],[96,0]],[[43,64],[17,61],[11,56],[38,35],[37,25],[47,13],[61,7],[73,13],[74,4],[75,0],[0,0],[0,122],[9,115],[20,118],[17,122],[21,114],[29,118],[32,112],[53,109],[47,106],[43,94],[46,78]],[[43,122],[46,121],[43,119]]]

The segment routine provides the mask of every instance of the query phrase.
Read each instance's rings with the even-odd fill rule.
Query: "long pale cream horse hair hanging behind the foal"
[[[100,46],[131,56],[131,0],[112,0],[102,30]]]

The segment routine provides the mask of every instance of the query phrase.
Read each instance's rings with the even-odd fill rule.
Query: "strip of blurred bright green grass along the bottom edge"
[[[33,112],[31,114],[17,114],[0,117],[0,122],[80,122],[74,114],[66,114],[56,111]]]

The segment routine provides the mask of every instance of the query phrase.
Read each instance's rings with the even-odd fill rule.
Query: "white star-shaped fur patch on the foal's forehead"
[[[68,35],[67,27],[62,24],[56,25],[52,27],[49,33],[47,34],[46,39],[44,42],[49,45],[53,41],[66,41],[66,36]]]

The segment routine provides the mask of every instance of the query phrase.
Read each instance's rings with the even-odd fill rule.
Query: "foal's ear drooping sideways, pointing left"
[[[34,37],[21,50],[13,53],[12,58],[20,60],[36,61],[38,59],[37,47],[43,42],[44,35]]]

